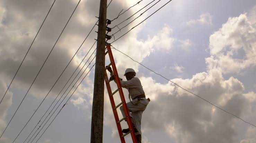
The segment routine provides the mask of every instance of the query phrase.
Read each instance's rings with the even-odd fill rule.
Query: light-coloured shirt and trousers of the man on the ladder
[[[111,75],[114,75],[112,72]],[[114,80],[115,81],[115,80]],[[116,81],[115,81],[116,82]],[[137,127],[138,132],[136,135],[141,134],[141,118],[143,111],[147,108],[149,101],[146,98],[141,98],[139,102],[138,98],[134,99],[138,95],[145,95],[139,78],[134,77],[128,81],[120,81],[123,88],[126,88],[129,92],[129,96],[133,99],[131,102],[126,103],[128,110],[131,112],[130,116],[133,118],[134,124]],[[136,104],[136,105],[134,105]],[[125,117],[123,106],[120,107],[122,115]]]

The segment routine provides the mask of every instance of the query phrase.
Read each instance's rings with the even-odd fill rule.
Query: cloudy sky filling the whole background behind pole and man
[[[78,1],[55,1],[0,104],[1,134],[26,95]],[[125,11],[137,2],[138,0],[113,0],[107,9],[107,19],[113,20],[121,10]],[[150,2],[151,0],[141,1],[108,26],[114,27]],[[115,34],[115,39],[147,18],[166,2],[167,0],[159,1],[138,19]],[[0,1],[1,99],[52,3],[53,0]],[[149,6],[152,6],[153,3]],[[118,28],[124,27],[145,10],[141,10],[129,20],[118,25]],[[29,141],[31,142],[35,137],[33,140],[35,143],[60,110],[61,112],[38,140],[38,143],[90,142],[94,85],[94,67],[92,65],[95,63],[93,51],[96,44],[92,45],[95,42],[94,39],[97,38],[97,33],[94,32],[97,31],[97,26],[86,40],[85,38],[97,21],[98,11],[99,0],[81,0],[31,89],[2,135],[0,143],[10,143],[15,140],[47,93],[49,94],[42,105],[15,142],[24,142],[35,127],[28,137],[29,140],[36,131]],[[109,34],[118,31],[118,28],[115,27]],[[84,40],[85,43],[82,44]],[[114,37],[108,42],[113,41]],[[81,44],[82,46],[78,50]],[[183,88],[251,124],[256,124],[255,0],[172,0],[122,38],[113,42],[112,45]],[[77,50],[77,54],[72,59]],[[112,52],[120,77],[125,79],[123,76],[125,69],[133,68],[136,71],[136,76],[141,80],[146,97],[151,99],[142,116],[143,143],[256,143],[256,127],[184,91],[120,52],[114,49]],[[82,61],[87,53],[87,57]],[[92,56],[89,58],[90,55]],[[72,61],[68,65],[71,59]],[[92,64],[86,63],[87,60],[92,61]],[[106,65],[108,63],[109,58],[106,58]],[[67,69],[61,75],[67,65]],[[85,66],[83,67],[83,65]],[[92,68],[91,72],[89,72],[90,68]],[[78,72],[80,70],[85,73],[81,75],[81,72]],[[75,83],[78,78],[74,79],[74,77],[81,75],[83,78],[87,72],[89,72],[88,75],[78,86],[81,79]],[[72,73],[74,73],[73,76],[71,76]],[[58,77],[60,78],[56,82]],[[70,77],[71,81],[74,79],[72,84],[69,81]],[[64,86],[66,83],[68,83],[67,86]],[[69,88],[68,85],[70,85]],[[67,102],[68,104],[63,107],[74,91],[73,85],[74,88],[78,88]],[[111,83],[111,86],[112,90],[116,88],[114,83]],[[127,90],[124,90],[124,94],[128,102]],[[66,95],[67,98],[64,98]],[[55,98],[56,100],[54,100]],[[60,103],[62,99],[64,100]],[[118,95],[114,96],[114,99],[116,103],[120,102]],[[52,103],[56,104],[53,109],[53,111],[56,109],[56,112],[51,112],[53,116],[43,127],[49,118],[46,116],[50,111],[46,111]],[[52,108],[53,106],[50,110]],[[43,116],[44,113],[46,113],[45,116]],[[119,110],[118,114],[121,115]],[[42,120],[40,120],[41,118]],[[44,119],[46,120],[43,122]],[[127,125],[122,123],[122,127],[126,128]],[[42,131],[38,133],[41,129]],[[127,142],[131,142],[130,136],[125,139]],[[106,88],[103,142],[120,142]]]

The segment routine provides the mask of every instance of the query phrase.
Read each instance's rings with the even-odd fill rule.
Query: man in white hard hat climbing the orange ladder
[[[110,75],[111,75],[109,80],[115,81],[114,72],[112,71],[112,69],[109,67],[107,70],[110,72]],[[127,81],[120,80],[120,82],[121,82],[122,87],[126,88],[128,90],[130,101],[132,98],[132,101],[128,102],[126,104],[127,104],[128,110],[131,112],[131,113],[130,112],[129,113],[130,113],[130,117],[131,117],[131,120],[133,123],[133,128],[134,128],[134,132],[136,135],[136,139],[137,139],[138,143],[141,143],[142,113],[146,109],[150,99],[145,98],[145,93],[141,86],[141,82],[137,77],[135,77],[135,75],[136,75],[136,72],[133,69],[128,68],[125,70],[125,73],[124,73],[124,76],[126,77]],[[122,112],[122,115],[125,117],[123,106],[120,107],[120,110]],[[123,129],[122,132],[123,133],[129,132],[129,128]]]

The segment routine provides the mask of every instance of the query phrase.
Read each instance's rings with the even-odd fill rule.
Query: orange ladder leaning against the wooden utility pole
[[[120,80],[119,80],[119,76],[118,76],[118,73],[117,73],[117,70],[116,70],[114,57],[113,57],[113,54],[112,54],[111,47],[110,47],[109,43],[106,43],[106,49],[107,49],[107,52],[105,53],[105,55],[106,54],[109,55],[109,59],[110,59],[111,63],[108,64],[108,66],[106,67],[105,70],[107,70],[110,66],[112,66],[112,69],[113,69],[113,72],[114,72],[114,77],[115,77],[116,84],[117,84],[117,89],[114,92],[111,91],[111,87],[110,87],[110,84],[109,84],[110,81],[108,80],[108,76],[107,76],[106,71],[105,71],[105,78],[104,79],[105,79],[105,83],[106,83],[106,86],[107,86],[107,91],[108,91],[109,99],[110,99],[111,106],[112,106],[112,109],[113,109],[113,113],[114,113],[114,116],[115,116],[116,126],[117,126],[117,130],[118,130],[118,133],[119,133],[119,136],[120,136],[120,140],[121,140],[122,143],[125,143],[124,137],[130,133],[131,136],[132,136],[133,143],[137,143],[136,135],[135,135],[135,132],[134,132],[134,129],[133,129],[132,121],[131,121],[131,117],[130,117],[129,111],[127,109],[127,104],[125,102],[124,93],[123,93],[123,90],[122,90],[122,85],[121,85]],[[122,102],[118,105],[115,105],[113,95],[117,91],[120,94],[120,98],[121,98]],[[121,120],[119,120],[116,109],[118,107],[120,107],[121,105],[123,105],[123,109],[124,109],[124,112],[125,112],[126,116],[124,118],[122,118]],[[122,122],[124,120],[127,120],[127,124],[129,126],[129,129],[130,129],[130,131],[128,133],[125,133],[125,134],[122,133],[122,127],[121,127],[121,124],[120,124],[120,122]]]

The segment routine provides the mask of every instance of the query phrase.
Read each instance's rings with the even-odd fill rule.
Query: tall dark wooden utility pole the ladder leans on
[[[91,115],[91,143],[102,143],[107,0],[100,0],[99,23]]]

